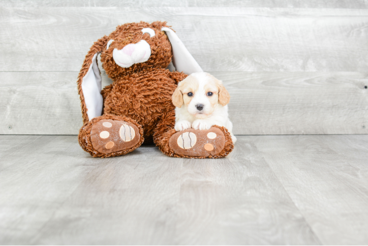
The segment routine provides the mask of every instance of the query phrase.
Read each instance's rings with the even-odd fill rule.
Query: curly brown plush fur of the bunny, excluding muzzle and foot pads
[[[170,137],[176,133],[174,130],[175,106],[172,104],[171,96],[177,84],[187,75],[166,69],[172,59],[172,48],[167,35],[161,31],[163,27],[168,27],[166,22],[124,24],[117,27],[109,36],[97,40],[88,52],[77,81],[84,123],[79,132],[79,143],[93,157],[127,154],[138,148],[144,141],[153,140],[164,154],[193,158],[193,156],[176,154],[169,146]],[[148,33],[143,33],[141,31],[143,28],[151,28],[155,35],[151,37]],[[111,39],[114,41],[107,49],[107,42]],[[127,68],[114,62],[113,50],[115,48],[122,50],[126,45],[136,44],[140,40],[145,40],[151,47],[151,56],[148,61],[135,63]],[[92,64],[92,57],[96,53],[101,53],[102,67],[113,83],[101,92],[103,115],[89,119],[82,82]],[[96,148],[93,148],[91,131],[93,124],[104,120],[134,124],[139,129],[139,134],[137,132],[137,136],[140,135],[139,142],[131,148],[113,153],[98,152]],[[210,158],[223,157],[233,149],[228,131],[224,127],[218,128],[225,136],[225,147],[218,154],[207,156]],[[110,137],[119,135],[118,132],[114,136],[112,133],[109,134]],[[196,156],[196,158],[205,157]]]

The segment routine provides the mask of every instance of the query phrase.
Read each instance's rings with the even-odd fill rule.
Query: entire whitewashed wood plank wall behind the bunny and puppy
[[[367,0],[2,0],[0,134],[78,134],[76,79],[93,42],[123,23],[157,20],[223,80],[235,134],[367,134],[367,8]]]

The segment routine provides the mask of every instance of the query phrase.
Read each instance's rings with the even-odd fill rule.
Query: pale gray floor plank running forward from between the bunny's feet
[[[33,245],[173,241],[183,159],[168,158],[154,147],[108,159],[104,165],[96,159],[93,170],[34,234]]]

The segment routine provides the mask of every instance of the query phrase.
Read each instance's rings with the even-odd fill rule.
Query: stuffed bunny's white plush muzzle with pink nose
[[[151,57],[151,46],[141,40],[136,44],[128,44],[123,49],[113,51],[113,59],[121,67],[130,67],[133,64],[147,62]]]

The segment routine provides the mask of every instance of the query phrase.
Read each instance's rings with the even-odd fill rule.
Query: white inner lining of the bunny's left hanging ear
[[[101,95],[101,75],[97,66],[97,55],[94,54],[92,64],[82,80],[82,92],[87,107],[87,116],[91,121],[102,115],[103,98]]]

